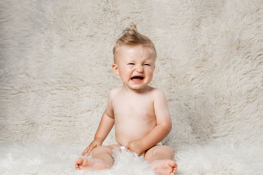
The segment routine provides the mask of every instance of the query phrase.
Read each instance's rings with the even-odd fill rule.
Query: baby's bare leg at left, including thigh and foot
[[[75,161],[76,169],[100,170],[113,165],[112,149],[117,145],[98,146],[92,150],[92,158],[78,158]]]

